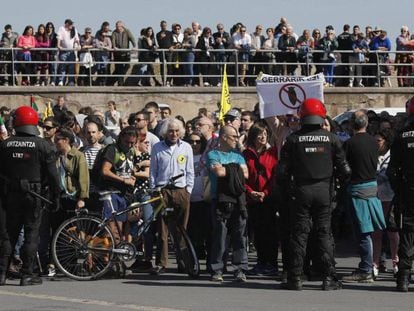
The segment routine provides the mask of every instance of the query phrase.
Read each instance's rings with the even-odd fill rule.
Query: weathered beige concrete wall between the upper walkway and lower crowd
[[[146,102],[169,104],[173,114],[186,120],[197,114],[198,108],[217,109],[221,89],[218,87],[173,88],[119,88],[119,87],[0,87],[0,106],[18,107],[29,105],[34,96],[40,111],[48,102],[53,103],[64,95],[70,110],[76,112],[82,106],[106,109],[106,103],[114,100],[118,110],[129,114],[140,110]],[[414,95],[413,88],[329,88],[325,90],[325,103],[331,116],[353,108],[403,107]],[[234,107],[253,109],[257,103],[255,88],[230,88]]]

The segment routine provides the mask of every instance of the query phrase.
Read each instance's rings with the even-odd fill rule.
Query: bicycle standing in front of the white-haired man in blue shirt
[[[143,233],[149,228],[151,222],[155,221],[158,216],[167,217],[173,211],[165,204],[163,188],[172,185],[181,176],[170,178],[170,182],[163,187],[149,190],[148,194],[151,196],[149,200],[133,202],[120,212],[114,210],[111,198],[111,194],[119,193],[119,191],[100,192],[100,199],[107,201],[112,209],[111,217],[102,220],[89,215],[87,210],[79,210],[75,217],[64,221],[52,240],[52,257],[56,267],[71,279],[88,281],[104,276],[116,262],[123,263],[135,259],[137,255],[142,255],[143,253],[138,252],[134,244],[123,238],[116,243],[109,222],[115,220],[117,216],[137,210],[144,204],[159,201],[153,209],[151,221],[138,224],[137,238],[142,239]],[[118,236],[122,237],[117,221],[115,225]],[[177,246],[182,259],[181,264],[190,277],[196,278],[200,273],[196,252],[186,230],[178,225],[177,230],[181,233],[184,242]]]

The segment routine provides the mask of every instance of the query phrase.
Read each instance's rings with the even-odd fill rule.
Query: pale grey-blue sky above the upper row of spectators
[[[12,24],[21,33],[26,25],[35,29],[40,23],[52,21],[55,27],[61,26],[66,18],[71,18],[81,33],[86,26],[94,32],[103,21],[111,28],[117,20],[123,20],[135,36],[141,28],[152,26],[159,29],[159,22],[165,19],[169,25],[178,22],[182,27],[198,21],[202,26],[214,28],[222,22],[226,29],[237,23],[244,23],[248,31],[256,24],[266,27],[277,25],[285,16],[296,33],[303,29],[333,25],[337,33],[342,32],[343,24],[351,27],[358,24],[380,26],[395,38],[400,27],[414,28],[413,0],[3,0],[0,10],[0,25]],[[7,3],[7,4],[6,4]],[[14,8],[14,9],[13,9]]]

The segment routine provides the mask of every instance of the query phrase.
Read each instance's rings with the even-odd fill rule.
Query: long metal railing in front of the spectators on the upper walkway
[[[72,52],[74,53],[71,55],[72,60],[62,60],[62,53],[71,54]],[[92,55],[88,61],[81,57],[85,52]],[[248,51],[238,49],[211,49],[208,51],[198,49],[117,49],[110,51],[89,49],[84,51],[36,48],[26,53],[30,53],[31,60],[23,60],[25,55],[22,49],[0,48],[0,82],[2,80],[3,83],[8,82],[9,85],[14,86],[21,85],[22,81],[26,80],[29,81],[27,84],[38,83],[41,80],[45,84],[53,82],[56,85],[62,81],[60,84],[63,85],[94,86],[118,83],[120,86],[142,84],[152,86],[155,83],[168,86],[204,85],[203,81],[209,81],[209,85],[220,85],[224,64],[227,64],[230,84],[235,86],[244,85],[245,81],[254,85],[259,71],[275,75],[288,75],[292,74],[293,70],[295,75],[310,75],[323,72],[324,68],[329,66],[337,68],[332,75],[336,81],[338,79],[350,80],[351,78],[364,79],[374,81],[372,82],[374,86],[381,86],[384,81],[390,83],[391,66],[397,68],[397,75],[393,74],[393,78],[405,79],[409,86],[413,86],[414,81],[411,70],[412,61],[395,63],[392,60],[411,59],[413,51],[369,51],[365,54],[366,60],[364,62],[343,62],[341,55],[355,56],[356,54],[353,51],[340,50],[334,51],[335,59],[325,57],[327,55],[325,51],[306,51],[305,54],[300,55],[302,61],[287,61],[289,53],[280,50],[254,49]],[[124,55],[123,61],[118,60],[117,55],[120,53]],[[207,61],[206,53],[209,54]],[[290,56],[297,59],[298,51],[293,54]],[[102,55],[107,56],[107,59],[104,59]],[[386,55],[388,57],[384,57]],[[394,58],[391,57],[392,55],[395,55]],[[46,56],[47,60],[44,59]],[[146,58],[146,61],[142,61],[143,57]],[[338,70],[341,68],[343,69],[342,73],[341,70]],[[355,72],[360,72],[360,74],[355,74]],[[151,83],[152,79],[155,81],[154,83]],[[104,82],[100,83],[100,81]]]

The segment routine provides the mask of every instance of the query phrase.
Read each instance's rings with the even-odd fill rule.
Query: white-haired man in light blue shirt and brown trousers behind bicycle
[[[187,227],[190,194],[194,185],[193,150],[187,142],[183,141],[185,130],[182,122],[175,118],[166,119],[160,130],[162,141],[156,143],[151,150],[150,184],[151,187],[166,186],[164,199],[166,205],[174,209],[175,219],[169,219],[168,225],[163,218],[158,219],[158,234],[160,241],[157,252],[156,266],[152,274],[164,273],[168,263],[168,232],[175,226]],[[173,184],[171,177],[182,175]],[[183,243],[179,230],[171,230],[175,233],[174,241],[177,250]],[[159,254],[159,255],[158,255]],[[179,256],[179,254],[177,254]],[[177,260],[178,261],[178,260]]]

